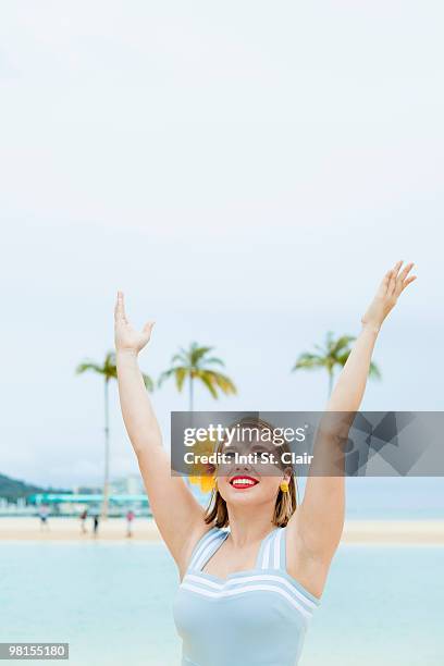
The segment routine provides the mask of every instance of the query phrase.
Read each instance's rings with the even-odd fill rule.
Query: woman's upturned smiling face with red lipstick
[[[270,454],[278,459],[273,443],[234,441],[231,446],[224,446],[222,453],[225,460],[217,470],[218,490],[227,505],[274,503],[281,481],[289,482],[291,473],[271,461]]]

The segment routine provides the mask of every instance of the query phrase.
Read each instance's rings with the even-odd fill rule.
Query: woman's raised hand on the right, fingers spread
[[[370,324],[379,329],[388,312],[395,307],[406,286],[416,280],[416,275],[407,278],[415,264],[407,263],[399,272],[402,266],[403,261],[398,261],[391,271],[385,273],[373,300],[361,319],[362,324]]]

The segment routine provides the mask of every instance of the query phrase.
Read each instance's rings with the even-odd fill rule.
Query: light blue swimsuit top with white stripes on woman
[[[196,544],[174,601],[183,666],[295,666],[320,600],[286,570],[286,528],[260,544],[256,566],[226,580],[202,571],[230,531]]]

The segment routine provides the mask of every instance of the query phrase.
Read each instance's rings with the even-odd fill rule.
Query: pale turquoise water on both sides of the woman
[[[442,666],[443,570],[440,546],[342,545],[301,666]],[[2,542],[0,640],[70,642],[72,666],[175,666],[176,585],[162,544]]]

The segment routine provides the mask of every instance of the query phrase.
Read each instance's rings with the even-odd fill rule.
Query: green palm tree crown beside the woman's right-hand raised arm
[[[317,368],[325,368],[329,373],[329,396],[333,388],[333,374],[336,366],[343,368],[346,360],[351,351],[350,343],[356,337],[353,335],[342,335],[337,340],[333,337],[332,331],[329,331],[325,336],[324,346],[314,345],[318,349],[318,354],[311,354],[304,351],[299,355],[295,366],[292,368],[292,372],[296,370],[314,370]],[[369,368],[369,377],[374,379],[381,379],[381,372],[378,366],[371,361]]]

